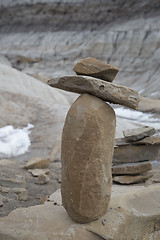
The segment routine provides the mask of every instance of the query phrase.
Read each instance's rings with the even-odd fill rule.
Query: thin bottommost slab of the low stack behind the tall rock
[[[153,176],[153,173],[150,173],[150,172],[145,172],[135,176],[131,176],[131,175],[114,176],[113,182],[124,184],[124,185],[142,183],[148,180],[149,178],[151,178],[152,176]]]

